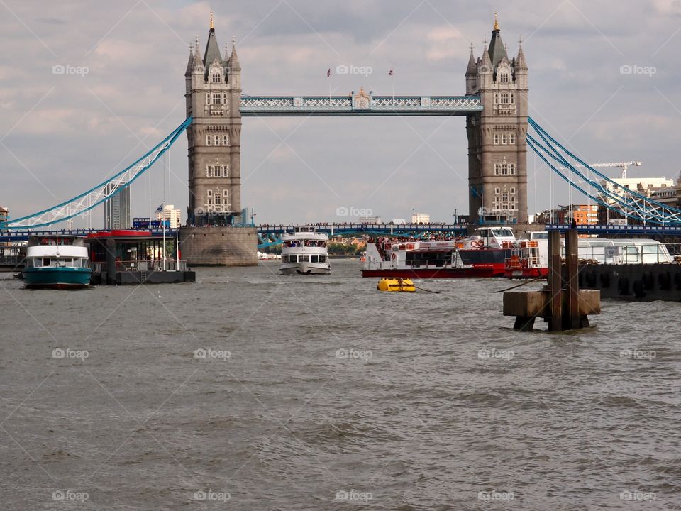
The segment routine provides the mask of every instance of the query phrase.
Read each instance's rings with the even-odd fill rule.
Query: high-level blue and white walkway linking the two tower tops
[[[482,111],[480,96],[241,96],[242,117],[453,116]]]

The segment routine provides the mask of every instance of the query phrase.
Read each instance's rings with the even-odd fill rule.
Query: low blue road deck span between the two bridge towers
[[[437,234],[453,234],[466,236],[467,226],[461,224],[319,224],[315,226],[317,232],[328,236],[353,236],[356,234],[367,236],[399,236],[402,238],[430,238]],[[292,232],[294,226],[259,226],[258,248],[267,248],[282,243],[282,235]]]

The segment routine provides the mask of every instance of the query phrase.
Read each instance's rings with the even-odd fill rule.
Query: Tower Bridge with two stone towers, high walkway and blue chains
[[[650,224],[681,225],[680,209],[621,189],[528,118],[524,51],[520,43],[516,55],[509,57],[496,16],[482,55],[476,56],[470,48],[463,95],[387,96],[360,88],[345,96],[253,96],[242,93],[241,73],[236,41],[232,40],[231,49],[225,47],[221,52],[211,15],[205,49],[199,48],[198,37],[189,48],[184,73],[185,121],[110,180],[55,207],[2,222],[0,229],[35,231],[84,214],[126,190],[186,131],[189,207],[187,227],[179,232],[184,254],[192,265],[254,264],[258,243],[270,243],[277,236],[271,230],[244,226],[241,217],[242,117],[257,116],[464,116],[468,182],[462,186],[467,187],[472,224],[485,211],[494,211],[509,224],[526,223],[529,146],[550,170],[604,207],[619,208],[626,217]],[[534,136],[528,134],[528,128]],[[577,165],[578,169],[571,161],[582,165]],[[608,186],[617,187],[616,192],[590,175],[609,180]],[[116,186],[111,186],[114,181]],[[202,229],[206,226],[211,229]],[[460,226],[447,229],[456,232]]]

